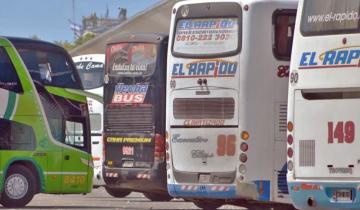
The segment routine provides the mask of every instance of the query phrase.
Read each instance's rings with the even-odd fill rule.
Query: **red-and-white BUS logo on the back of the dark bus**
[[[124,85],[115,86],[113,104],[144,103],[148,85]]]

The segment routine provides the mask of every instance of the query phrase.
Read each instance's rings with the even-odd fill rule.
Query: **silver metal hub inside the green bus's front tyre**
[[[29,183],[21,174],[12,174],[5,181],[5,193],[11,199],[21,199],[29,189]]]

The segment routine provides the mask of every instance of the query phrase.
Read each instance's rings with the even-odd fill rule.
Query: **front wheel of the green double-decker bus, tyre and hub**
[[[22,165],[11,167],[6,175],[1,205],[9,208],[26,206],[34,197],[35,184],[36,179],[30,169]]]

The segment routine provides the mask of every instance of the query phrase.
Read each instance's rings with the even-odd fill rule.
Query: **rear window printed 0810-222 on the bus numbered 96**
[[[180,19],[173,52],[187,56],[219,55],[239,48],[238,18]]]

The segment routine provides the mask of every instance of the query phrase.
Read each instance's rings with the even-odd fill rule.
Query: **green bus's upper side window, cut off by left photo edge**
[[[16,70],[3,47],[0,47],[0,88],[16,93],[23,92]]]

